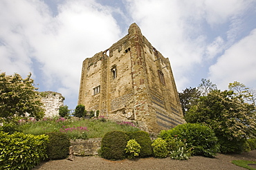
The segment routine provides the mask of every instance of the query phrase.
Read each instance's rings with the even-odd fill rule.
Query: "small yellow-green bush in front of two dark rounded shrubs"
[[[140,144],[135,139],[130,139],[125,147],[125,153],[127,153],[128,159],[134,159],[140,153]]]

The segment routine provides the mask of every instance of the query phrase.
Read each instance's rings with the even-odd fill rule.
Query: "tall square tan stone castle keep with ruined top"
[[[185,123],[169,59],[141,34],[129,34],[82,63],[78,105],[158,132]]]

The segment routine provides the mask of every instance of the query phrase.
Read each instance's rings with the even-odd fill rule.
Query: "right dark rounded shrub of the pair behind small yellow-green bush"
[[[146,131],[133,131],[128,132],[127,135],[129,139],[135,139],[138,144],[140,144],[140,157],[145,158],[152,156],[153,149],[152,149],[152,141],[149,137],[149,134]]]

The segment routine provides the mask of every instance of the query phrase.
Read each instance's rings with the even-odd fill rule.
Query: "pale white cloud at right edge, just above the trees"
[[[238,81],[256,89],[256,29],[244,39],[232,45],[210,67],[210,79],[221,89],[227,89],[228,83]]]

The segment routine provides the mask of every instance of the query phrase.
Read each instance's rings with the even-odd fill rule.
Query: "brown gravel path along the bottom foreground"
[[[232,160],[256,161],[256,150],[242,154],[218,154],[216,158],[205,158],[203,156],[192,156],[190,160],[172,160],[171,158],[140,158],[137,160],[105,160],[98,156],[80,157],[76,156],[74,161],[51,160],[44,162],[33,170],[68,170],[68,169],[244,169],[232,164]],[[254,167],[256,169],[256,167]]]

